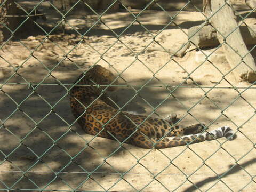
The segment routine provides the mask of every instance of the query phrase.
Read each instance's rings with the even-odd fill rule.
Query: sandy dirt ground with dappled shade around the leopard
[[[83,41],[78,34],[48,39],[37,35],[8,42],[0,50],[0,78],[2,85],[6,83],[0,92],[1,190],[256,190],[256,86],[228,73],[221,47],[202,51],[191,47],[183,57],[171,58],[153,39],[170,22],[168,14],[146,11],[138,18],[143,27],[129,15],[103,16],[105,25],[98,23]],[[95,22],[86,17],[70,18],[69,25],[85,33],[88,28],[83,25]],[[54,19],[47,21],[49,26]],[[188,41],[188,28],[203,19],[201,13],[181,11],[156,41],[166,50],[178,50]],[[124,33],[117,39],[110,29]],[[203,52],[214,52],[211,62],[205,61]],[[67,90],[94,63],[120,74],[123,86],[109,95],[124,110],[158,118],[175,112],[180,124],[199,121],[210,130],[229,125],[237,130],[236,140],[149,150],[119,147],[115,141],[85,134],[74,123]]]

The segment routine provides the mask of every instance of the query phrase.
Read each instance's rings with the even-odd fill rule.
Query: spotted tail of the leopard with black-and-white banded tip
[[[137,146],[143,147],[143,148],[153,148],[153,146],[155,146],[155,148],[161,149],[161,148],[183,146],[183,145],[198,143],[206,140],[210,141],[210,140],[214,140],[221,137],[226,137],[228,140],[233,140],[236,138],[236,135],[234,134],[234,131],[231,130],[230,127],[223,126],[210,132],[205,131],[203,133],[184,135],[180,137],[164,137],[162,140],[159,140],[159,141],[154,138],[145,138],[146,141],[137,142],[137,143],[134,143],[134,145],[137,144]],[[140,145],[140,143],[142,145]]]

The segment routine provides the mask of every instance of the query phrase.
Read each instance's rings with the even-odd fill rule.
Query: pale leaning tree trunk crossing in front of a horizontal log
[[[247,49],[228,0],[204,0],[204,12],[217,30],[217,38],[237,79],[256,81],[255,61]]]

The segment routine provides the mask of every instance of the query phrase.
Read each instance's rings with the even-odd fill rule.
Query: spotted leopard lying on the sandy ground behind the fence
[[[71,111],[85,133],[146,149],[185,146],[221,137],[235,138],[229,126],[207,131],[201,123],[177,125],[179,119],[175,113],[155,118],[121,110],[106,92],[117,89],[117,79],[110,70],[94,65],[74,82],[69,92]]]

